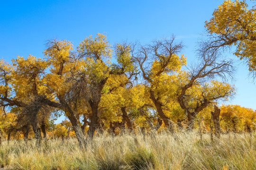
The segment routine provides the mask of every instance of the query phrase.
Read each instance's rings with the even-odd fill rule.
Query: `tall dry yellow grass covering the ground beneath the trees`
[[[4,142],[0,164],[9,170],[254,170],[256,134],[222,135],[214,143],[196,133],[96,136],[86,151],[76,139]]]

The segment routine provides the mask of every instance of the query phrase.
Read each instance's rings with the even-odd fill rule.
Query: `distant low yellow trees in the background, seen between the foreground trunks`
[[[217,107],[217,106],[215,106]],[[195,119],[195,127],[203,132],[210,132],[212,129],[215,129],[215,134],[219,137],[220,132],[222,133],[240,133],[240,132],[248,132],[250,133],[252,130],[255,130],[256,127],[256,110],[252,110],[249,108],[244,108],[239,105],[222,105],[220,106],[219,110],[220,113],[218,115],[219,118],[219,127],[214,127],[216,123],[214,123],[212,115],[214,111],[210,110],[212,108],[208,108],[199,113],[197,118]],[[8,141],[10,139],[27,139],[34,138],[33,130],[30,126],[18,128],[19,125],[17,124],[17,114],[9,112],[3,115],[0,119],[0,129],[1,129],[1,136],[4,136]],[[151,116],[151,115],[150,115]],[[155,122],[147,121],[149,115],[128,115],[131,119],[131,125],[126,124],[126,128],[131,126],[134,128],[135,131],[141,132],[149,132],[150,130],[158,130],[163,131],[166,130],[166,127],[159,126],[153,127],[153,124],[156,124],[157,118],[155,117]],[[121,119],[122,122],[122,119]],[[108,132],[111,135],[120,135],[125,130],[125,127],[121,126],[121,122],[115,122],[109,124],[109,126],[102,127],[105,132]],[[217,123],[218,123],[217,122]],[[123,122],[124,123],[124,122]],[[82,123],[80,123],[82,126]],[[113,125],[114,124],[114,125]],[[118,125],[117,125],[118,124]],[[176,122],[173,122],[173,127],[176,131],[180,131],[187,127],[186,121],[181,121],[181,119],[176,118]],[[99,129],[99,130],[102,130]],[[84,129],[84,133],[86,133],[88,127]],[[129,129],[130,130],[130,129]],[[100,131],[99,131],[100,132]],[[127,132],[127,131],[126,131]],[[218,133],[219,132],[219,133]],[[46,136],[47,138],[54,139],[54,138],[61,138],[64,140],[65,138],[75,137],[74,130],[72,128],[72,124],[69,120],[65,119],[59,124],[54,124],[51,120],[46,122]],[[1,140],[0,140],[1,141]]]

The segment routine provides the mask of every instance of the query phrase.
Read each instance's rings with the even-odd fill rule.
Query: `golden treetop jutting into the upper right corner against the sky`
[[[245,0],[225,0],[205,22],[207,31],[215,38],[213,48],[236,46],[234,54],[246,59],[249,70],[256,70],[256,6],[248,9]]]

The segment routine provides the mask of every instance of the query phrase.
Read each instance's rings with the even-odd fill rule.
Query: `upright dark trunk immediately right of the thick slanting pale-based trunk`
[[[91,123],[87,132],[87,137],[86,140],[92,140],[94,136],[94,132],[98,126],[98,108],[99,108],[99,102],[93,102],[90,101],[90,106],[91,106]]]

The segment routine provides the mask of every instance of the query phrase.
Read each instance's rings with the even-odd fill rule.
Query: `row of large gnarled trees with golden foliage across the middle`
[[[227,4],[245,5],[225,1],[222,6]],[[42,59],[29,55],[12,59],[12,64],[0,61],[0,104],[4,113],[16,115],[17,128],[32,126],[38,143],[41,131],[46,137],[49,120],[60,114],[71,122],[82,148],[96,129],[133,132],[136,123],[143,129],[165,126],[174,132],[178,124],[191,130],[199,114],[235,94],[235,87],[227,83],[234,70],[232,60],[221,57],[226,44],[214,44],[220,43],[212,27],[217,22],[218,16],[206,22],[212,37],[200,43],[198,62],[188,67],[181,54],[183,44],[174,37],[147,45],[111,46],[104,34],[97,34],[75,49],[66,40],[48,41]],[[245,57],[250,58],[247,53]]]

